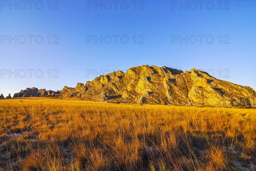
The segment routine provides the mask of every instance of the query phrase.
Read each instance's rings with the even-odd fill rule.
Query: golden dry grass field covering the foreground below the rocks
[[[253,171],[255,146],[255,109],[0,100],[3,171]]]

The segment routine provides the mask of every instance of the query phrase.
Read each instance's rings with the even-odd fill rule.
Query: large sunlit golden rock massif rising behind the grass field
[[[183,72],[148,65],[101,75],[75,88],[65,86],[55,94],[137,104],[256,107],[256,91],[248,86],[219,80],[201,70]]]

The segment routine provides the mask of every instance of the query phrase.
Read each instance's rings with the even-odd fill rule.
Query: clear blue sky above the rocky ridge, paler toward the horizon
[[[218,0],[206,0],[202,6],[197,3],[196,8],[190,1],[182,2],[188,4],[187,9],[180,6],[180,1],[172,0],[136,1],[136,7],[134,0],[119,1],[116,6],[112,0],[107,3],[97,1],[102,3],[102,9],[95,6],[95,1],[49,3],[47,0],[32,4],[17,1],[17,5],[12,6],[9,1],[1,0],[0,93],[13,96],[26,87],[61,90],[65,85],[75,87],[78,82],[91,81],[108,70],[126,70],[144,64],[183,71],[192,68],[212,70],[216,78],[248,85],[255,90],[255,1],[221,1],[220,6]],[[15,1],[12,3],[15,5]],[[42,9],[41,3],[44,5]],[[11,42],[9,35],[13,38]],[[28,35],[34,36],[31,43]],[[38,42],[35,41],[37,35],[41,35]],[[48,35],[52,37],[50,43]],[[53,38],[54,35],[57,36]],[[90,35],[97,38],[102,35],[105,39],[102,44],[100,40],[94,43],[94,40],[90,41],[93,38]],[[108,35],[112,37],[111,42]],[[119,35],[116,43],[113,35]],[[125,36],[121,42],[122,35]],[[176,40],[180,35],[182,38],[188,36],[187,44],[186,40],[181,43]],[[204,35],[201,43],[198,35]],[[39,44],[41,37],[44,41]],[[127,37],[129,41],[125,44]],[[212,37],[214,41],[210,44]],[[29,69],[34,70],[31,78]],[[58,72],[53,72],[54,69],[59,71],[55,75],[59,78],[53,78]],[[9,75],[9,71],[15,70],[17,78],[15,74]],[[26,76],[22,78],[24,70]],[[36,70],[39,70],[38,75],[35,75]],[[99,73],[87,76],[89,70]],[[41,71],[44,75],[39,78]]]

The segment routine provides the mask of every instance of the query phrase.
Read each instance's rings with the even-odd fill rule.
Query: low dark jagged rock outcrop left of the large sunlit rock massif
[[[20,90],[19,93],[15,93],[13,97],[50,97],[50,96],[59,96],[61,93],[60,91],[52,91],[52,90],[45,90],[39,89],[36,87],[26,88],[26,90]]]

